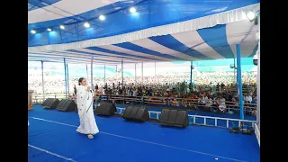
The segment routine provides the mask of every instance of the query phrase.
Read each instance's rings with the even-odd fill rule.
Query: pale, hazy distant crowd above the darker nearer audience
[[[68,88],[69,92],[73,93],[74,85],[77,85],[77,79],[69,77]],[[247,85],[256,84],[257,74],[256,73],[243,73],[242,83]],[[124,76],[124,85],[153,85],[160,86],[176,84],[177,82],[185,81],[186,84],[190,83],[190,73],[175,73],[169,76]],[[103,87],[104,83],[111,86],[112,83],[118,83],[121,81],[121,76],[107,76],[105,79],[103,77],[94,77],[93,83],[97,84],[99,87]],[[213,72],[213,73],[193,73],[193,85],[217,85],[217,83],[223,83],[224,85],[234,84],[236,82],[235,74],[232,72]],[[29,87],[35,91],[36,94],[42,93],[42,81],[41,76],[38,77],[28,77]],[[87,83],[90,84],[91,80],[88,77]],[[65,79],[64,76],[45,76],[44,77],[44,90],[48,94],[64,94],[65,93]]]

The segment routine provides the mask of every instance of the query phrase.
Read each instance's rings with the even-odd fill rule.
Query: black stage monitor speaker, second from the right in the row
[[[148,121],[149,119],[148,108],[146,106],[129,105],[125,109],[125,112],[123,113],[122,117],[128,121],[140,121],[140,122]]]

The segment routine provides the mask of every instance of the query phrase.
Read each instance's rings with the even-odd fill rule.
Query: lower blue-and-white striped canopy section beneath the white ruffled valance
[[[75,60],[84,59],[89,62],[91,56],[94,56],[94,61],[99,63],[113,61],[119,63],[121,59],[125,63],[208,60],[234,58],[237,43],[241,46],[242,57],[252,57],[257,50],[256,33],[257,25],[245,20],[197,31],[179,32],[112,45],[65,51],[29,52],[29,58],[30,60],[57,58],[62,61],[61,58],[65,57]]]

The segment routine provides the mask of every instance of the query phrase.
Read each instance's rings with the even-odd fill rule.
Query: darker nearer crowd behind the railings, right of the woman
[[[165,85],[134,85],[133,83],[121,85],[118,82],[117,85],[105,84],[100,88],[95,85],[92,88],[96,98],[108,96],[108,100],[111,99],[114,103],[123,103],[124,98],[128,100],[129,97],[138,97],[146,104],[168,104],[168,106],[182,106],[200,111],[231,114],[239,110],[237,86],[232,84],[187,85],[185,82],[178,82]],[[256,85],[243,85],[243,105],[247,115],[256,115],[257,95],[254,93],[256,93]],[[118,96],[117,99],[115,96]]]

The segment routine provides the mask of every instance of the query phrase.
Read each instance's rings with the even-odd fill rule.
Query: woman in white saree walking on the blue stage
[[[86,134],[89,139],[99,132],[93,112],[93,92],[90,86],[86,85],[84,77],[79,78],[77,88],[77,108],[80,118],[80,126],[76,131]]]

